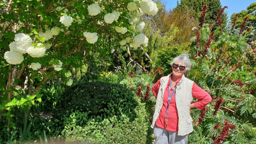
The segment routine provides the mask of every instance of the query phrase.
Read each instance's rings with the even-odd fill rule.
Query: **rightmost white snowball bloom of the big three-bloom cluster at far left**
[[[27,48],[27,54],[31,57],[43,57],[45,55],[46,48],[42,43],[38,43],[37,47],[30,46]]]

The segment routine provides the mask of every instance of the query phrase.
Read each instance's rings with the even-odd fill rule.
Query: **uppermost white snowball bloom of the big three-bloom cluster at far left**
[[[14,48],[14,45],[12,44],[12,50],[15,50],[20,53],[26,53],[27,48],[32,45],[32,39],[30,38],[30,36],[25,35],[24,33],[15,34],[14,40],[16,48]]]

